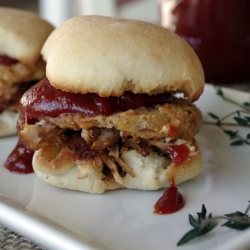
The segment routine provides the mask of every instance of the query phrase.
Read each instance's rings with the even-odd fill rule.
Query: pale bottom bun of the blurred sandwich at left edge
[[[4,110],[0,113],[0,137],[17,133],[16,122],[18,116],[19,112],[16,110]]]

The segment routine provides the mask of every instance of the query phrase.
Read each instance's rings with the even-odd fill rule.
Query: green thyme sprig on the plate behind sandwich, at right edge
[[[216,87],[217,95],[221,96],[223,100],[233,103],[237,105],[240,109],[235,110],[224,117],[219,117],[218,115],[209,112],[208,115],[216,120],[215,123],[213,122],[204,122],[208,125],[216,125],[222,131],[229,136],[231,140],[233,140],[232,143],[230,143],[231,146],[240,146],[240,145],[250,145],[250,133],[248,133],[246,136],[242,136],[239,133],[239,130],[231,130],[226,129],[225,126],[232,126],[232,127],[245,127],[250,128],[250,101],[249,102],[243,102],[242,104],[228,98],[225,96],[224,92],[221,88]],[[228,123],[226,122],[226,119],[233,117],[234,123]]]

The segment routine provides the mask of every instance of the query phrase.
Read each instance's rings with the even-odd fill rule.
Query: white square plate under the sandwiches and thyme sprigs
[[[240,103],[249,101],[250,94],[223,91]],[[223,116],[238,109],[216,95],[211,85],[206,85],[197,106],[204,120],[213,122],[208,112]],[[239,130],[249,133],[249,128]],[[244,212],[250,200],[250,146],[229,146],[229,137],[218,126],[205,124],[197,140],[204,166],[200,175],[179,185],[186,205],[177,213],[156,215],[154,204],[164,190],[91,195],[50,186],[35,174],[9,173],[3,164],[17,137],[2,138],[0,223],[49,249],[247,249],[250,230],[238,232],[220,226],[184,246],[176,246],[192,229],[188,214],[196,216],[202,204],[216,216]]]

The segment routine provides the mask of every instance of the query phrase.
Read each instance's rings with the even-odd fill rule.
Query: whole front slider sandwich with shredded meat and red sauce
[[[18,130],[43,181],[89,193],[157,190],[201,171],[193,102],[204,73],[182,38],[142,21],[78,16],[42,55],[46,78],[23,95]]]

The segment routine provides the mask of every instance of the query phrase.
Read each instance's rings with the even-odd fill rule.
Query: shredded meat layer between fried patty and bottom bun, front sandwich
[[[46,147],[51,148],[53,144],[59,144],[61,149],[69,150],[68,155],[78,166],[79,179],[88,177],[96,166],[103,166],[103,174],[113,176],[115,181],[121,185],[122,177],[126,174],[135,177],[132,169],[121,159],[124,151],[134,149],[143,156],[148,156],[151,151],[155,151],[168,158],[169,164],[173,162],[176,166],[182,164],[188,157],[199,154],[191,142],[186,140],[172,141],[171,138],[145,140],[122,136],[123,133],[115,128],[94,127],[89,130],[73,131],[59,129],[43,120],[34,125],[27,125],[21,132],[21,136],[26,142],[32,141],[28,137],[35,139],[32,144],[28,144],[35,150],[39,148],[46,150]],[[34,145],[35,142],[36,145]],[[63,154],[61,151],[60,153]],[[60,153],[58,153],[58,158],[57,156],[53,158],[54,162],[60,162]]]

